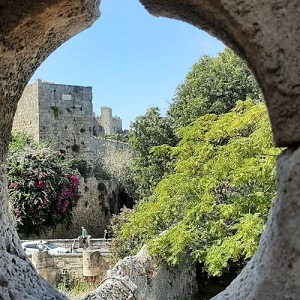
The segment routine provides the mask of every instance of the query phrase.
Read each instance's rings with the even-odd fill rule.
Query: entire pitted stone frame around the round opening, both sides
[[[253,71],[271,119],[274,143],[289,149],[277,166],[278,192],[259,249],[215,299],[297,299],[300,293],[300,4],[297,0],[140,0],[154,15],[181,19],[231,46]],[[99,16],[97,0],[1,3],[0,199],[3,299],[63,299],[37,276],[8,218],[4,161],[18,99],[37,66]],[[275,275],[274,275],[275,274]]]

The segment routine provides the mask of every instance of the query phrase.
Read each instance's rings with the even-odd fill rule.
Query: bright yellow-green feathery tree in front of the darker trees
[[[174,171],[116,230],[118,255],[147,242],[170,265],[189,253],[209,274],[220,275],[232,263],[243,265],[257,248],[275,195],[279,150],[272,147],[264,105],[250,100],[220,116],[204,115],[178,134],[181,141],[167,149]],[[162,156],[166,147],[152,152]]]

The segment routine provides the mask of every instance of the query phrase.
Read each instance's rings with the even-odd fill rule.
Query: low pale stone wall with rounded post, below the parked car
[[[37,272],[52,285],[57,284],[66,274],[78,280],[90,277],[100,279],[108,270],[107,256],[102,256],[100,250],[64,254],[34,252],[28,257]]]

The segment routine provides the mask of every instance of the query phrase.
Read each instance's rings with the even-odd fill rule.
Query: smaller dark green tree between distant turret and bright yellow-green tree
[[[163,178],[169,167],[169,156],[155,155],[154,146],[176,144],[176,136],[169,119],[160,115],[159,109],[150,108],[144,116],[131,124],[129,145],[133,157],[132,172],[140,200],[145,200]]]

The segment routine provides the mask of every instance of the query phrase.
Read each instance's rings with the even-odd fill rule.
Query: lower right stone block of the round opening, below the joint
[[[257,252],[231,285],[213,299],[299,299],[300,148],[278,158],[277,177],[277,197]]]

